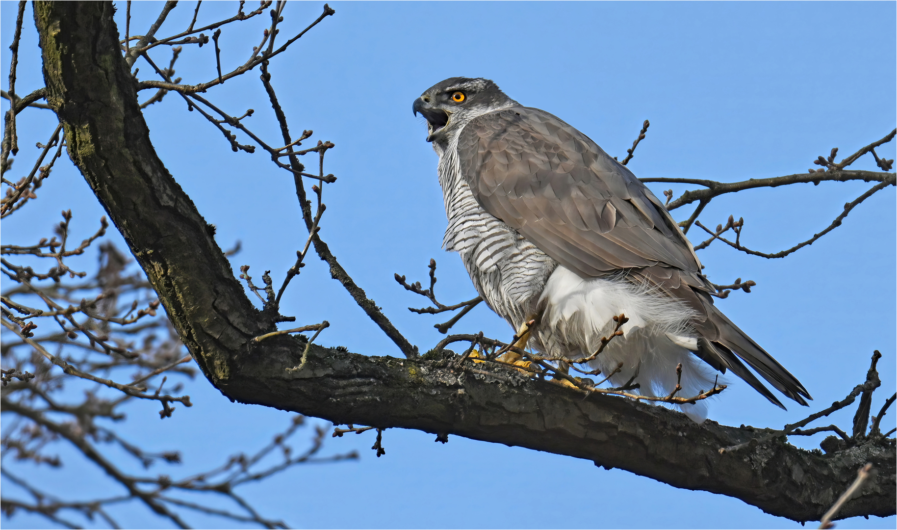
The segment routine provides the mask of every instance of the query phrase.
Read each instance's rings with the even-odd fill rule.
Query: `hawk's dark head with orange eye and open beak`
[[[427,141],[432,142],[457,133],[477,116],[517,104],[489,79],[449,77],[414,100],[412,110],[427,119]]]

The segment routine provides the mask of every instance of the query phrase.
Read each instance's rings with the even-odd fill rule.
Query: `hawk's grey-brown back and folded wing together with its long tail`
[[[581,278],[631,270],[697,313],[696,353],[710,366],[731,369],[781,406],[740,357],[806,404],[797,378],[713,305],[700,261],[660,201],[590,138],[544,110],[511,107],[467,123],[457,156],[483,209],[553,260]]]

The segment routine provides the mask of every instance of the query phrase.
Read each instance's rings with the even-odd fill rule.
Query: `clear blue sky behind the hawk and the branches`
[[[180,4],[159,35],[186,28],[194,5]],[[445,214],[437,158],[423,141],[422,119],[411,113],[414,98],[444,78],[491,78],[510,97],[561,117],[611,155],[625,155],[641,122],[650,119],[648,137],[629,164],[640,177],[741,181],[806,172],[833,146],[840,147],[840,158],[894,128],[893,2],[330,5],[335,16],[274,60],[273,83],[293,131],[314,129],[312,140],[336,145],[325,169],[339,180],[325,190],[321,236],[422,350],[441,338],[432,324],[447,319],[409,313],[406,307],[422,306],[423,299],[399,287],[393,274],[424,280],[427,262],[435,258],[443,303],[475,296],[457,256],[440,249]],[[4,72],[15,6],[0,3]],[[144,32],[160,8],[161,3],[135,2],[132,33]],[[235,10],[235,3],[204,3],[200,21]],[[304,28],[319,12],[319,3],[288,4],[282,37]],[[120,3],[122,21],[123,13]],[[30,6],[18,93],[42,85],[28,17]],[[223,29],[224,68],[246,60],[262,27],[250,21]],[[167,63],[169,56],[159,51],[153,58]],[[153,78],[149,66],[138,66],[141,79]],[[186,47],[176,69],[185,83],[212,79],[213,47]],[[254,108],[246,123],[277,143],[280,133],[256,73],[205,95],[234,115]],[[242,242],[234,269],[248,264],[253,274],[271,269],[275,281],[283,278],[306,237],[290,175],[262,152],[232,153],[220,133],[196,112],[187,112],[176,95],[144,114],[161,159],[206,220],[217,225],[218,243],[228,248]],[[34,155],[30,146],[47,141],[53,122],[47,110],[20,114],[22,162]],[[878,153],[894,158],[894,144]],[[855,167],[876,169],[871,158]],[[845,202],[869,187],[848,182],[751,190],[715,199],[701,220],[715,226],[730,214],[744,216],[742,242],[776,252],[821,230]],[[665,189],[652,188],[658,195]],[[103,215],[65,160],[30,208],[72,208],[76,237],[92,233]],[[690,213],[684,210],[674,216],[684,218]],[[884,354],[883,387],[873,408],[893,393],[894,217],[890,188],[851,212],[832,234],[784,260],[747,256],[716,243],[701,251],[711,280],[757,282],[751,294],[734,293],[718,305],[815,398],[810,410],[795,405],[780,411],[735,381],[711,403],[712,420],[763,427],[799,420],[862,383],[873,349]],[[55,222],[35,225],[26,219],[17,215],[4,222],[4,243],[38,239]],[[124,247],[118,234],[110,238]],[[84,268],[93,266],[93,256],[83,260]],[[318,260],[310,259],[293,280],[283,314],[296,315],[302,324],[327,319],[332,326],[319,339],[324,344],[400,355]],[[483,306],[455,328],[481,330],[510,336],[507,325]],[[179,476],[211,467],[232,452],[266,443],[289,420],[283,411],[233,404],[204,380],[190,384],[188,392],[196,405],[171,419],[158,420],[155,405],[135,403],[121,425],[126,436],[151,448],[184,450],[182,470],[159,473]],[[831,420],[846,426],[852,414],[842,411]],[[892,411],[885,417],[885,429],[893,428],[895,416]],[[821,439],[792,442],[812,447]],[[434,444],[428,434],[388,430],[387,455],[375,458],[370,432],[335,438],[328,442],[330,451],[357,448],[361,460],[297,468],[249,487],[246,494],[266,516],[294,527],[799,527],[736,499],[676,490],[588,461],[449,440]],[[99,471],[74,458],[61,472],[31,473],[36,480],[76,481],[85,495],[109,488]],[[577,500],[558,510],[560,499]],[[164,526],[140,507],[121,508],[120,515],[129,526]],[[9,528],[44,524],[29,517],[4,520]],[[893,517],[839,523],[840,528],[893,526]]]

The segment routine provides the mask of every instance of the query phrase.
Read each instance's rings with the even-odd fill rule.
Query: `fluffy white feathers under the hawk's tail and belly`
[[[554,269],[539,300],[542,321],[533,335],[533,346],[552,356],[587,357],[614,330],[614,315],[629,319],[623,336],[612,340],[592,361],[593,368],[609,373],[623,362],[623,371],[610,382],[620,385],[635,375],[639,392],[666,395],[675,389],[675,367],[682,363],[682,391],[688,397],[710,390],[713,377],[689,349],[697,339],[688,322],[692,311],[648,286],[625,278],[579,278],[563,266]],[[707,418],[706,400],[681,410],[692,420]]]

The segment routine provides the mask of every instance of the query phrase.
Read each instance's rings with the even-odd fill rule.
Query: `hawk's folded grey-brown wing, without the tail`
[[[584,278],[658,264],[700,270],[650,191],[547,112],[515,107],[475,118],[457,149],[483,208],[536,244],[576,243],[555,259]]]

